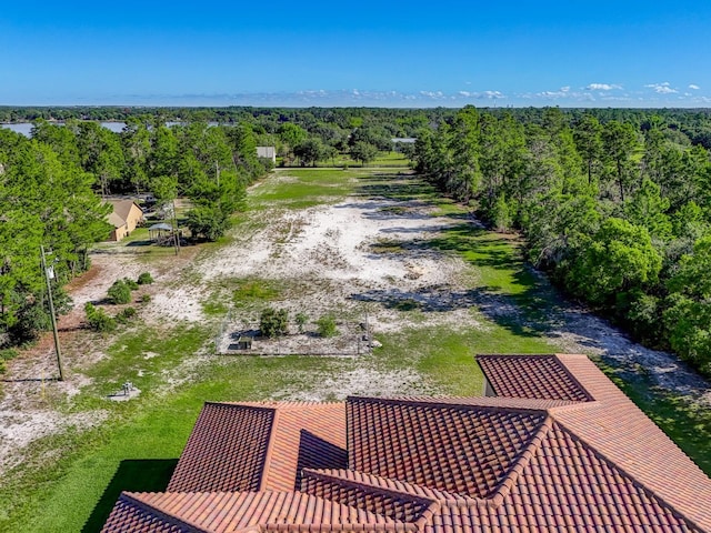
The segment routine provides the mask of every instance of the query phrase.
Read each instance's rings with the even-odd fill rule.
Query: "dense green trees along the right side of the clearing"
[[[415,145],[417,169],[570,294],[711,373],[711,159],[674,114],[468,107]]]

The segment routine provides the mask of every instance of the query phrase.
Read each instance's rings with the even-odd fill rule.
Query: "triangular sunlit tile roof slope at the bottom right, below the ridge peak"
[[[472,511],[474,531],[487,523],[511,533],[521,524],[535,531],[589,531],[605,524],[617,531],[635,523],[651,533],[700,531],[557,423],[502,504]]]

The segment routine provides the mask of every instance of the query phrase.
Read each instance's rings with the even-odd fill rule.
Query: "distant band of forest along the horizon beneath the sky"
[[[0,123],[66,121],[69,119],[93,121],[128,121],[151,117],[169,122],[217,122],[239,124],[249,122],[254,132],[276,134],[281,124],[290,122],[321,139],[326,144],[336,145],[339,138],[348,135],[356,128],[375,128],[387,131],[388,137],[417,137],[421,128],[451,121],[457,109],[388,109],[388,108],[144,108],[116,105],[76,107],[2,107]],[[487,109],[497,118],[510,115],[521,123],[542,125],[545,108]],[[652,128],[652,121],[661,119],[672,131],[683,133],[694,144],[711,149],[711,109],[565,109],[565,120],[575,122],[583,115],[591,115],[601,123],[615,120],[630,123],[640,131]]]

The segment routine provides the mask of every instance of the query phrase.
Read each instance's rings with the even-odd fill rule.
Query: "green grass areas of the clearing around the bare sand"
[[[266,209],[302,209],[334,202],[348,193],[430,202],[435,214],[461,218],[462,224],[417,245],[455,253],[471,266],[471,291],[494,294],[520,309],[523,320],[492,318],[472,309],[481,326],[457,331],[410,328],[378,335],[382,348],[359,360],[337,358],[217,358],[211,339],[228,301],[258,305],[280,298],[289,286],[258,278],[223,280],[206,291],[207,323],[162,329],[134,326],[110,341],[109,358],[84,369],[94,380],[72,400],[54,409],[68,413],[102,410],[106,422],[89,431],[68,431],[41,439],[27,461],[8,472],[0,484],[2,532],[96,532],[122,490],[160,491],[174,469],[204,401],[279,398],[283,391],[308,392],[319,380],[342,375],[357,365],[414,370],[433,388],[452,395],[480,394],[482,376],[477,353],[541,353],[554,351],[539,319],[555,305],[554,293],[528,270],[518,244],[508,235],[472,231],[468,212],[442,200],[417,179],[397,183],[381,171],[286,169],[252,190],[248,211],[236,215],[234,234],[249,233],[264,222]],[[201,253],[217,253],[210,244]],[[188,275],[188,274],[187,274]],[[417,305],[403,306],[417,323]],[[544,323],[544,321],[541,321]],[[202,358],[192,358],[203,353]],[[181,365],[189,356],[192,364]],[[180,371],[176,369],[181,369]],[[614,374],[613,369],[607,369]],[[109,402],[106,394],[131,379],[142,391],[130,402]],[[711,421],[673,398],[660,398],[642,384],[625,385],[637,401],[687,453],[711,472]],[[50,457],[48,460],[48,457]]]

